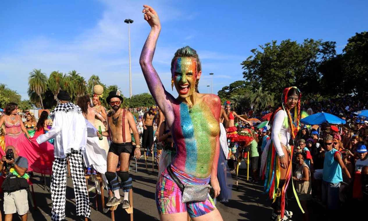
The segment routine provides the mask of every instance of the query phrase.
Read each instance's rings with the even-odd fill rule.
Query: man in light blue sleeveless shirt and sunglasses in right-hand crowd
[[[333,137],[327,135],[324,139],[326,152],[322,178],[322,203],[331,212],[337,211],[340,206],[339,190],[340,183],[343,181],[342,171],[349,179],[351,178],[342,160],[341,153],[332,147],[332,143]]]

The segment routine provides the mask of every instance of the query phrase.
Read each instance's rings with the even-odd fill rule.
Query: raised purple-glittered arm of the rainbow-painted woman
[[[148,38],[143,46],[141,57],[139,58],[139,64],[141,64],[144,78],[146,79],[148,89],[151,92],[153,99],[155,99],[158,106],[166,116],[166,120],[169,125],[174,121],[174,114],[171,103],[174,101],[174,97],[168,93],[155,68],[153,68],[152,60],[155,54],[157,40],[161,31],[160,19],[155,10],[151,6],[143,6],[144,19],[151,26]]]

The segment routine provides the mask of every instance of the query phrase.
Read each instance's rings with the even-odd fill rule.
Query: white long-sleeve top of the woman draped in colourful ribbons
[[[284,155],[281,143],[287,146],[290,140],[290,129],[288,127],[287,114],[284,110],[279,110],[275,114],[271,138],[273,145],[275,145],[277,155]]]

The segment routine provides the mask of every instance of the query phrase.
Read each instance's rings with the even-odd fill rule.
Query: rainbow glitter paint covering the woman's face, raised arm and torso
[[[213,94],[195,94],[193,107],[183,103],[183,97],[195,93],[198,73],[194,58],[177,58],[173,67],[173,78],[179,97],[175,99],[164,89],[152,65],[159,29],[152,29],[142,49],[139,63],[148,88],[165,115],[177,154],[171,164],[178,170],[198,178],[216,178],[219,157],[219,118],[221,101]],[[194,62],[193,62],[194,61]],[[180,93],[178,86],[188,84],[190,91]],[[183,90],[185,92],[185,90]]]

